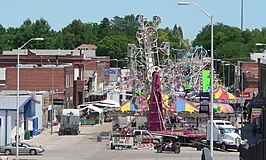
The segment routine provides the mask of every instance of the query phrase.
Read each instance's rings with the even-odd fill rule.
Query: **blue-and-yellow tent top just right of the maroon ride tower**
[[[188,112],[198,112],[199,109],[194,105],[193,102],[190,102],[183,97],[176,98],[176,104],[174,106],[176,112],[188,111]]]

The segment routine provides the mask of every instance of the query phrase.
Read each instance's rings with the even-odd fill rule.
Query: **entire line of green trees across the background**
[[[205,49],[211,48],[211,26],[206,25],[197,34],[192,45],[202,45]],[[0,24],[0,53],[20,47],[33,37],[42,37],[45,41],[29,43],[27,48],[36,49],[74,49],[81,44],[94,44],[97,46],[96,55],[108,55],[112,59],[127,56],[127,45],[137,44],[137,25],[134,15],[125,17],[115,16],[113,19],[103,18],[98,23],[73,20],[69,25],[59,31],[51,28],[49,23],[40,18],[35,22],[25,20],[17,28],[4,28]],[[171,48],[188,50],[189,40],[183,38],[180,26],[158,29],[158,44],[167,41]],[[241,31],[234,26],[223,23],[214,24],[214,56],[234,63],[237,60],[250,60],[250,52],[262,51],[263,46],[256,46],[257,42],[266,43],[266,28],[246,29]],[[171,58],[175,51],[171,50]]]

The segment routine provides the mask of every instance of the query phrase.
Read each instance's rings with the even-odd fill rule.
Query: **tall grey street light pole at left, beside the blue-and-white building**
[[[26,43],[24,43],[21,47],[18,48],[17,50],[17,126],[16,126],[16,160],[19,159],[19,151],[18,151],[18,142],[19,142],[19,51],[25,47],[30,41],[43,41],[43,38],[31,38],[29,39]]]

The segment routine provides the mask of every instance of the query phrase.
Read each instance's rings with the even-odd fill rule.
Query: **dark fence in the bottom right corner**
[[[257,142],[255,145],[246,148],[245,146],[240,146],[239,157],[240,160],[265,160],[266,159],[266,139]]]

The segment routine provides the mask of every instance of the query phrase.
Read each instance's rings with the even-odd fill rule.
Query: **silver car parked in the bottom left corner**
[[[45,151],[42,147],[35,147],[25,142],[20,142],[18,149],[20,154],[31,155],[36,155]],[[0,146],[0,153],[5,153],[6,155],[15,154],[16,151],[16,143],[9,143],[6,146]]]

